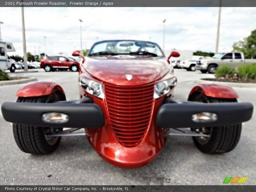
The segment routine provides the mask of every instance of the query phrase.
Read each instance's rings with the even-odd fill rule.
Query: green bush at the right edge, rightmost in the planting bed
[[[237,68],[238,76],[244,79],[255,79],[256,78],[256,64],[240,65]]]

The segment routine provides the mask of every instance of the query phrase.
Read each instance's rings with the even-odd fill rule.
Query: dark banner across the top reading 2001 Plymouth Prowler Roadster
[[[1,0],[1,7],[255,7],[255,0]]]

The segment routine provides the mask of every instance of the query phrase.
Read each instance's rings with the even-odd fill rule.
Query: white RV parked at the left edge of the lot
[[[9,69],[12,73],[15,71],[15,60],[10,59],[7,52],[14,52],[15,48],[12,43],[0,41],[0,69]]]

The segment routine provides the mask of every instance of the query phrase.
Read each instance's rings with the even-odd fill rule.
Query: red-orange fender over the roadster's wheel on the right
[[[235,90],[223,84],[199,84],[195,86],[189,93],[188,100],[193,93],[202,93],[207,97],[223,98],[223,99],[237,99],[238,94]]]

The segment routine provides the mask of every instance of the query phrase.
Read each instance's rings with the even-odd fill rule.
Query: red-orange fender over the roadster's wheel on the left
[[[59,91],[65,96],[63,89],[60,85],[51,82],[36,82],[28,84],[19,89],[16,93],[17,97],[39,97],[44,95],[50,95],[53,92]]]

